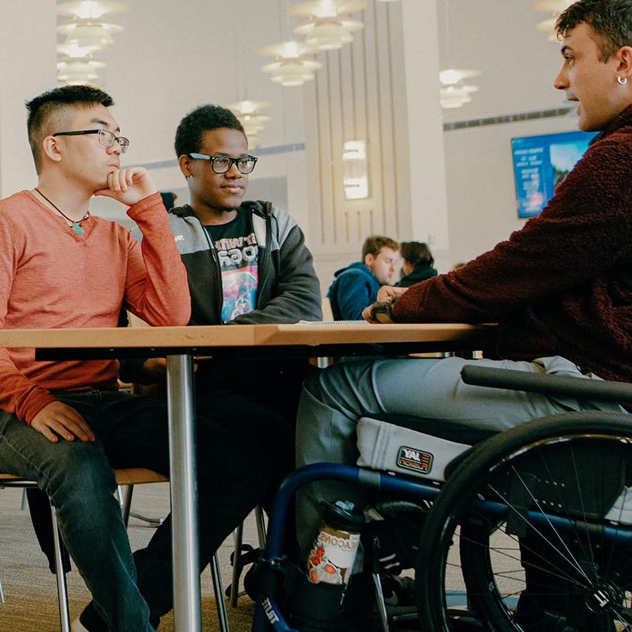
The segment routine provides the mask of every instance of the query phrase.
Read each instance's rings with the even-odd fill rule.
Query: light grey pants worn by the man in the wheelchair
[[[469,386],[461,381],[465,364],[536,373],[582,375],[562,357],[533,362],[509,360],[442,360],[404,358],[341,362],[305,380],[298,407],[296,465],[318,461],[354,464],[357,461],[356,425],[361,416],[401,414],[431,419],[465,421],[479,428],[506,430],[519,423],[563,412],[606,409],[622,412],[617,404],[596,404],[566,397],[550,397],[518,390]],[[320,502],[350,500],[364,503],[366,492],[340,482],[313,482],[297,495],[298,544],[306,555],[320,520]]]

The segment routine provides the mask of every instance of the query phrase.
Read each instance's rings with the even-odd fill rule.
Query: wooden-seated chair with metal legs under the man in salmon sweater
[[[149,470],[147,468],[119,468],[114,470],[116,476],[117,485],[125,486],[126,493],[124,494],[124,502],[121,506],[123,513],[123,520],[125,524],[128,524],[131,500],[133,495],[133,487],[135,485],[145,485],[147,483],[154,482],[168,482],[169,478],[166,476]],[[27,489],[29,487],[37,487],[37,484],[33,481],[24,480],[12,474],[0,473],[0,487],[20,487]],[[66,576],[63,572],[63,559],[62,559],[62,541],[60,538],[57,515],[55,508],[51,505],[51,515],[53,519],[53,539],[55,545],[55,574],[57,576],[57,593],[59,603],[59,616],[60,616],[60,630],[61,632],[70,632],[70,610],[68,607],[68,593],[66,586]],[[223,598],[223,586],[220,574],[219,562],[217,555],[213,555],[211,560],[211,576],[213,579],[213,591],[215,593],[215,599],[218,610],[218,622],[220,632],[230,632],[228,625],[228,613],[226,612],[226,604]],[[0,595],[2,595],[0,585]],[[4,598],[0,600],[4,603]]]

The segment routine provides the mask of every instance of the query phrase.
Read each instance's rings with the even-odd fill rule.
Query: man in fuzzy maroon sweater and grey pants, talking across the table
[[[562,13],[557,29],[562,68],[555,87],[577,101],[579,128],[600,136],[522,230],[447,275],[407,290],[383,287],[378,300],[392,303],[394,322],[499,322],[495,348],[469,362],[632,381],[632,0],[580,0]],[[369,322],[375,315],[374,306],[363,312]],[[355,428],[364,414],[459,419],[503,430],[603,408],[468,386],[460,377],[467,362],[379,359],[310,376],[298,411],[298,466],[355,463]],[[304,549],[319,501],[341,498],[355,499],[357,491],[336,482],[300,494]]]

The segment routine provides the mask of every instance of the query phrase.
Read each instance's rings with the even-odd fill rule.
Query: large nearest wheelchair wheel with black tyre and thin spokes
[[[416,583],[428,632],[462,629],[459,612],[492,632],[632,630],[632,416],[563,414],[475,447],[428,515]]]

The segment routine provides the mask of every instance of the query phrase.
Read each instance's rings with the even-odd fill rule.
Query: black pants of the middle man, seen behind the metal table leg
[[[222,542],[265,499],[279,416],[239,392],[197,397],[197,475],[200,571]],[[134,553],[138,587],[152,619],[173,605],[171,520],[149,546]]]

